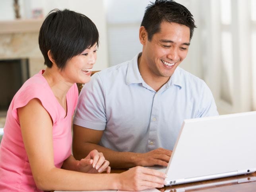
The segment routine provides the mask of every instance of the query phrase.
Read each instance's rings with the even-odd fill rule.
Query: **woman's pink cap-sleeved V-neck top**
[[[53,122],[52,140],[54,164],[62,167],[63,161],[71,155],[71,124],[78,100],[78,88],[74,84],[66,95],[67,115],[58,103],[46,79],[44,70],[27,80],[14,96],[7,112],[4,136],[0,145],[0,191],[40,191],[35,185],[27,153],[21,136],[17,108],[38,98]],[[35,127],[36,129],[36,127]],[[45,157],[47,158],[47,157]]]

